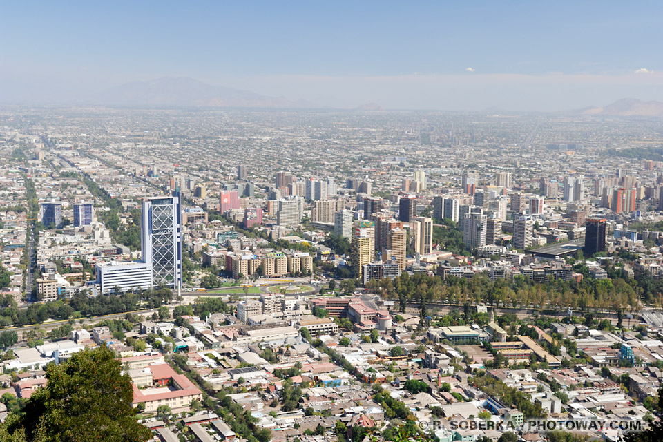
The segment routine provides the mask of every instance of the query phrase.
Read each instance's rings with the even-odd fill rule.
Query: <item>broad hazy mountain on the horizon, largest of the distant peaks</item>
[[[267,97],[249,90],[213,86],[193,78],[163,77],[151,81],[133,81],[106,90],[95,99],[108,106],[200,106],[238,108],[315,108],[305,101],[292,102],[285,97]]]

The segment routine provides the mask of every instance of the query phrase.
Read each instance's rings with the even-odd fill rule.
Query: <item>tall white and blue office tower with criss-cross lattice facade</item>
[[[180,193],[143,200],[142,261],[152,266],[152,285],[182,287],[182,211]]]

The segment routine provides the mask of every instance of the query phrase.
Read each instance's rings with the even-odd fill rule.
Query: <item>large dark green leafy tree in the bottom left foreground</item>
[[[27,440],[125,441],[150,438],[131,406],[131,378],[106,345],[75,353],[60,365],[48,365],[48,382],[26,402],[12,434]],[[39,437],[39,439],[37,439]]]

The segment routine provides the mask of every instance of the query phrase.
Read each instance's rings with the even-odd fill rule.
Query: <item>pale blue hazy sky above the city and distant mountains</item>
[[[2,0],[0,16],[0,103],[165,76],[338,108],[663,101],[657,1]]]

